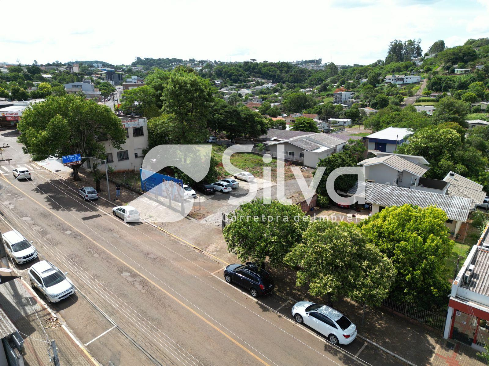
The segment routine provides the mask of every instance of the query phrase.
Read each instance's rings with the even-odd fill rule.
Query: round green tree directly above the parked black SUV
[[[300,243],[309,224],[300,206],[278,201],[264,204],[254,200],[238,208],[222,235],[227,249],[242,261],[252,260],[271,266],[280,266],[292,246]]]

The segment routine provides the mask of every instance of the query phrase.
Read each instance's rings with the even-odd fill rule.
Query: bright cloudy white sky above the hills
[[[47,5],[49,4],[49,5]],[[489,0],[0,0],[0,61],[141,58],[296,61],[384,59],[394,39],[447,46],[489,37]],[[9,16],[12,15],[12,16]]]

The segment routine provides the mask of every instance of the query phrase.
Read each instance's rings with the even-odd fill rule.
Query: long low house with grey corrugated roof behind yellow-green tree
[[[357,194],[358,185],[365,188],[363,194]],[[468,220],[468,214],[472,205],[468,198],[450,196],[441,193],[429,192],[420,189],[410,189],[393,184],[359,182],[348,191],[349,195],[357,198],[365,198],[365,203],[370,206],[372,215],[385,207],[402,206],[412,204],[419,207],[437,206],[445,211],[448,220],[445,225],[452,235],[456,235],[463,223]]]

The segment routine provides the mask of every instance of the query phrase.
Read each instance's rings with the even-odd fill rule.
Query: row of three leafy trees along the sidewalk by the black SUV
[[[329,301],[380,305],[387,296],[424,307],[446,304],[444,260],[453,242],[436,207],[387,207],[361,224],[310,222],[300,206],[256,200],[223,230],[242,261],[297,269],[296,285]]]

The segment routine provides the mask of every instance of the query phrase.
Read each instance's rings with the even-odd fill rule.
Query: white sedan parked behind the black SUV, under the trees
[[[332,307],[299,301],[292,306],[292,316],[297,323],[326,336],[333,345],[349,345],[356,338],[356,325]]]

